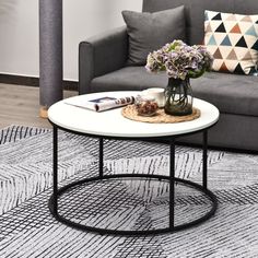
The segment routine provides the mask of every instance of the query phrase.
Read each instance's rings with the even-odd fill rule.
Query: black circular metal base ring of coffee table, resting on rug
[[[67,190],[71,189],[72,187],[75,187],[78,185],[82,185],[82,184],[89,184],[89,183],[93,183],[93,181],[101,181],[101,180],[108,180],[108,179],[117,179],[117,178],[150,178],[150,179],[159,179],[159,180],[168,180],[169,181],[169,177],[168,176],[162,176],[162,175],[148,175],[148,174],[115,174],[115,175],[104,175],[103,177],[90,177],[90,178],[85,178],[82,180],[78,180],[74,183],[71,183],[64,187],[61,187],[58,190],[58,197],[60,197],[61,195],[63,195]],[[198,191],[204,194],[211,201],[211,208],[210,210],[202,216],[200,216],[199,219],[192,220],[190,222],[184,223],[184,224],[179,224],[179,225],[175,225],[173,227],[164,227],[164,228],[156,228],[156,230],[145,230],[145,231],[124,231],[124,230],[112,230],[112,228],[102,228],[102,227],[94,227],[94,226],[89,226],[89,225],[83,225],[77,222],[73,222],[71,220],[66,219],[64,216],[60,215],[58,213],[58,210],[55,211],[54,209],[54,196],[50,197],[49,199],[49,210],[51,212],[51,214],[61,223],[67,224],[71,227],[78,228],[78,230],[82,230],[82,231],[89,231],[89,232],[93,232],[93,233],[98,233],[98,234],[112,234],[112,235],[154,235],[154,234],[163,234],[163,233],[169,233],[169,232],[176,232],[176,231],[180,231],[184,228],[189,228],[194,225],[200,224],[204,221],[207,221],[208,219],[210,219],[216,211],[218,208],[218,200],[215,195],[208,190],[204,189],[201,185],[190,181],[190,180],[186,180],[186,179],[181,179],[181,178],[175,178],[175,183],[181,183],[184,185],[190,186],[195,189],[197,189]]]

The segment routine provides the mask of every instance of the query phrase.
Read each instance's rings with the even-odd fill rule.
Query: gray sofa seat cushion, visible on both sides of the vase
[[[221,113],[258,116],[258,77],[207,72],[190,81],[194,96],[215,105]],[[165,73],[148,73],[144,67],[126,67],[95,78],[92,92],[142,91],[165,87]]]

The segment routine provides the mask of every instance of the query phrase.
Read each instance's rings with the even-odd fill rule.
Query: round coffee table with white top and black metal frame
[[[94,99],[103,96],[124,97],[137,95],[139,92],[105,92],[80,95],[73,97],[73,101]],[[149,124],[129,120],[121,115],[121,108],[96,113],[85,108],[68,105],[67,99],[54,104],[48,110],[48,118],[54,130],[54,192],[49,199],[49,209],[52,215],[60,222],[75,228],[96,232],[101,234],[117,235],[148,235],[175,232],[192,225],[204,222],[211,218],[218,207],[216,197],[207,187],[207,149],[208,149],[208,129],[219,120],[220,113],[212,104],[195,98],[194,106],[201,110],[201,116],[191,121],[177,124]],[[74,181],[64,187],[58,188],[58,129],[71,133],[97,138],[99,142],[99,164],[98,176]],[[175,140],[186,134],[202,132],[202,184],[197,184],[187,179],[175,177]],[[169,144],[169,176],[150,175],[150,174],[114,174],[105,175],[103,173],[103,141],[104,139],[117,140],[159,140],[166,139]],[[125,145],[126,148],[126,145]],[[95,227],[81,224],[64,218],[58,212],[58,199],[69,189],[83,184],[92,184],[105,180],[134,178],[149,178],[154,180],[165,180],[169,184],[169,221],[168,226],[163,228],[144,231],[125,231],[104,227]],[[190,222],[175,225],[175,184],[180,183],[187,187],[201,191],[211,202],[211,208],[200,218]],[[115,200],[114,200],[115,201]]]

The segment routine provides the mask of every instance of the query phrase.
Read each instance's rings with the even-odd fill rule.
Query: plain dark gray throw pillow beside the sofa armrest
[[[174,39],[185,39],[184,7],[148,13],[122,11],[129,35],[128,64],[143,66],[149,52]]]

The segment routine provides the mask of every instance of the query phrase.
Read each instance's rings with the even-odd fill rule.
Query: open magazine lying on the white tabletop
[[[134,96],[125,96],[125,97],[110,97],[104,96],[94,99],[83,99],[83,98],[68,98],[66,102],[68,105],[91,109],[94,112],[103,112],[113,109],[116,107],[126,106],[128,104],[134,103]]]

